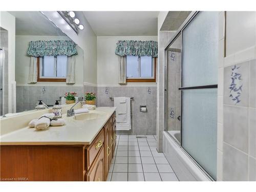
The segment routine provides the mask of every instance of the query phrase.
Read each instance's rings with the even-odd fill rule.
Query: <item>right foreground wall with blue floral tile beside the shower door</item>
[[[227,12],[225,58],[219,15],[217,180],[256,181],[256,12]]]

